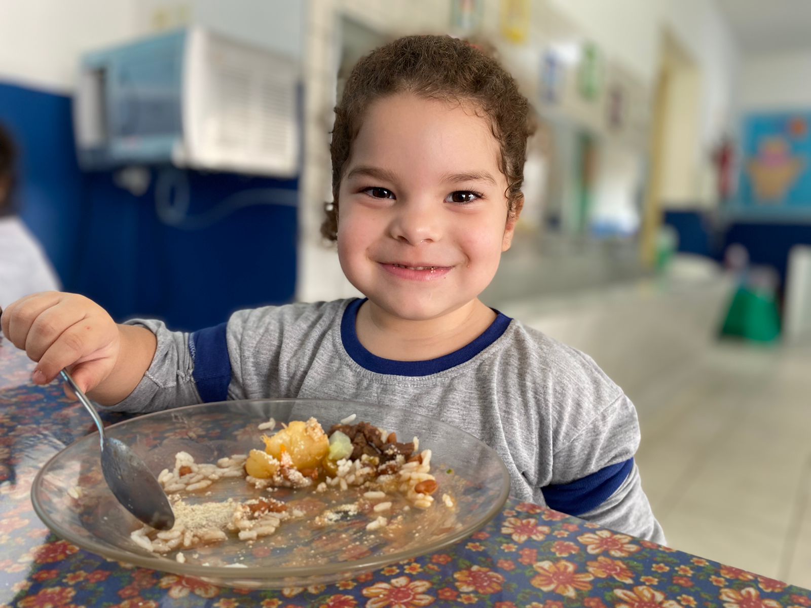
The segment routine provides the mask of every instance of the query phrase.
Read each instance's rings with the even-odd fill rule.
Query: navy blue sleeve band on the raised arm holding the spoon
[[[191,376],[204,403],[228,399],[231,358],[225,339],[226,326],[227,323],[220,323],[213,328],[201,329],[189,338],[189,353],[195,362]]]

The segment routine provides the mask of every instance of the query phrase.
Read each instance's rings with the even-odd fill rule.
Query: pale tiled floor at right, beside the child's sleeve
[[[637,462],[677,549],[811,588],[811,349],[707,349]]]

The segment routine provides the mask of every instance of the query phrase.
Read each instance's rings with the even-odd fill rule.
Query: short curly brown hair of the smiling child
[[[526,97],[495,59],[468,42],[450,36],[405,36],[358,61],[335,108],[330,146],[333,203],[325,206],[326,219],[321,225],[324,238],[337,240],[338,190],[363,114],[373,101],[399,92],[473,102],[490,119],[492,133],[500,144],[500,169],[507,178],[504,195],[508,212],[511,217],[517,216],[526,140],[534,130]]]

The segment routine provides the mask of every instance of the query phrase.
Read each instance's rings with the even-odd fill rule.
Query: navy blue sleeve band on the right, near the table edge
[[[616,492],[633,471],[633,458],[609,465],[569,483],[541,488],[547,506],[568,515],[580,516],[599,507]]]

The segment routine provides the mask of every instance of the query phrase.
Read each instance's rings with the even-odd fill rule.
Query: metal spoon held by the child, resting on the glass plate
[[[101,472],[115,498],[144,524],[159,530],[170,529],[174,526],[174,512],[161,484],[144,465],[144,460],[125,443],[105,437],[104,424],[91,401],[67,371],[62,370],[59,374],[71,385],[79,401],[93,417],[93,422],[96,422],[101,443]]]

